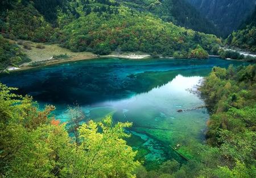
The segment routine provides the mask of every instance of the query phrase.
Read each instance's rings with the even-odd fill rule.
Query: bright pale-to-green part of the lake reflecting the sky
[[[199,97],[188,92],[201,78],[178,74],[167,84],[148,92],[123,100],[98,102],[82,109],[89,119],[100,121],[105,115],[113,115],[114,121],[133,122],[129,130],[135,138],[127,142],[139,151],[139,159],[148,165],[173,158],[182,161],[176,151],[183,153],[184,147],[202,142],[209,117],[204,108],[189,110],[204,105]],[[178,113],[178,109],[187,111]],[[66,111],[57,114],[57,118],[67,121]]]

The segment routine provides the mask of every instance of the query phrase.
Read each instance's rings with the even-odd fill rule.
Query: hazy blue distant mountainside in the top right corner
[[[251,15],[255,0],[187,0],[205,18],[215,24],[222,36],[237,30],[240,24]]]

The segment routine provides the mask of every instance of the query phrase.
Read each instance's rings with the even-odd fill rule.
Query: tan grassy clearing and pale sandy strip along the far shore
[[[56,65],[62,63],[69,63],[73,61],[81,61],[81,60],[92,60],[98,58],[109,58],[109,57],[117,57],[121,59],[148,59],[151,55],[142,52],[127,52],[122,54],[112,53],[110,55],[95,55],[91,52],[72,52],[67,48],[59,47],[57,44],[42,44],[35,43],[31,41],[24,41],[24,43],[29,43],[31,45],[31,49],[24,49],[22,45],[19,45],[20,48],[23,48],[24,53],[30,57],[30,63],[24,63],[19,65],[18,67],[8,67],[7,71],[15,72],[15,71],[24,71],[33,68],[40,68],[48,65]],[[38,44],[44,46],[44,48],[36,48]],[[56,57],[65,55],[65,59],[63,57]],[[209,56],[209,57],[219,57],[219,56]],[[174,59],[174,57],[160,57],[159,59],[168,58]],[[234,59],[225,59],[225,60],[234,60]],[[240,60],[242,61],[242,60]],[[244,60],[245,61],[245,60]]]

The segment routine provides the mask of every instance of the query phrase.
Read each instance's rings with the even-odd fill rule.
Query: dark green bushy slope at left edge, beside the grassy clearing
[[[5,70],[9,65],[19,65],[29,61],[30,59],[18,45],[0,35],[0,71]]]

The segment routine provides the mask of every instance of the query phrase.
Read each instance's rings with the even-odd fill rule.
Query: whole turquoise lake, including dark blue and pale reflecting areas
[[[217,58],[97,59],[53,65],[0,76],[0,81],[33,96],[40,106],[53,104],[67,122],[67,106],[82,106],[86,120],[133,122],[127,143],[147,168],[167,159],[192,159],[191,147],[204,142],[209,118],[204,101],[191,92],[214,65],[247,65]],[[196,109],[200,107],[200,109]],[[183,112],[177,112],[177,110]],[[183,155],[183,156],[181,156]]]

